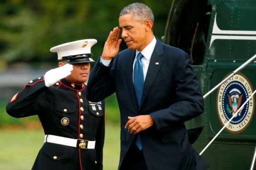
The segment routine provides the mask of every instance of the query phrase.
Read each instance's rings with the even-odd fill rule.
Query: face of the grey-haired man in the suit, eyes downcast
[[[132,20],[132,13],[128,13],[119,17],[119,26],[122,31],[122,38],[124,39],[129,50],[142,51],[147,44],[146,22],[140,23]]]

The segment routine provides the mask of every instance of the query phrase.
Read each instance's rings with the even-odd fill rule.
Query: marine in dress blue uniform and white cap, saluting
[[[90,49],[96,42],[78,40],[50,49],[58,53],[60,67],[31,80],[7,104],[12,117],[38,115],[44,128],[44,145],[33,170],[103,168],[105,103],[88,101],[83,83],[94,62]]]

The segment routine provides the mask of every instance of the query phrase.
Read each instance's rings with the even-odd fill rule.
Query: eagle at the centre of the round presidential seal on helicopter
[[[241,94],[240,90],[238,89],[232,89],[230,91],[230,95],[227,94],[227,96],[229,97],[229,105],[230,107],[232,108],[230,110],[230,108],[228,107],[227,105],[227,111],[232,114],[232,116],[236,113],[236,111],[238,110],[238,108],[240,107],[241,105],[241,101],[242,101],[242,96],[243,94],[241,94],[241,96],[239,96],[239,94]],[[243,108],[242,108],[243,109]],[[242,109],[239,111],[238,115],[240,116],[241,115],[241,112],[242,112]],[[237,117],[237,115],[235,116]]]

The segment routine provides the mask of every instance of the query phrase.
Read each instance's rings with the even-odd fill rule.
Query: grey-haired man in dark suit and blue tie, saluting
[[[120,170],[204,170],[210,165],[188,141],[184,121],[204,111],[203,96],[184,51],[153,35],[150,8],[125,7],[90,74],[87,98],[116,92],[121,114]],[[118,53],[121,39],[128,49]],[[113,61],[113,58],[116,58]]]

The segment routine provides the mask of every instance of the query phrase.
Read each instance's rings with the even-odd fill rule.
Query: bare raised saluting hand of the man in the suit
[[[113,31],[110,32],[107,41],[105,42],[103,53],[101,58],[105,60],[110,60],[114,58],[118,51],[121,44],[120,36],[120,29],[118,27],[114,28]]]

